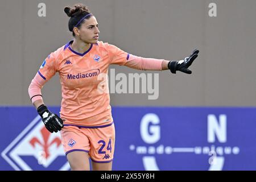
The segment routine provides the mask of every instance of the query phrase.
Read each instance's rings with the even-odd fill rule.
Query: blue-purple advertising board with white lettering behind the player
[[[59,113],[59,107],[49,107]],[[254,107],[113,107],[113,170],[256,170]],[[0,170],[69,170],[34,107],[0,107]]]

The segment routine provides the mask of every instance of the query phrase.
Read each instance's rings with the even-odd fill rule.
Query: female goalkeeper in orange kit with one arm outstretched
[[[47,130],[60,131],[61,140],[72,170],[112,170],[115,129],[109,92],[99,92],[101,73],[108,74],[110,64],[172,73],[191,74],[188,67],[198,50],[181,61],[147,59],[126,53],[112,44],[98,41],[100,31],[88,7],[77,4],[65,7],[70,17],[68,28],[74,39],[52,52],[44,60],[28,88],[32,104]],[[60,117],[44,105],[41,89],[56,72],[61,83]],[[63,123],[63,121],[65,121]]]

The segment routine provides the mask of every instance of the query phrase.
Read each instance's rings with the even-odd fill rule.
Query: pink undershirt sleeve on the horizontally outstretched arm
[[[125,66],[140,70],[162,71],[163,59],[152,59],[129,55]]]

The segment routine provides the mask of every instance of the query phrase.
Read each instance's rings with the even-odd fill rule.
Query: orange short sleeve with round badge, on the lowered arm
[[[50,80],[51,77],[55,75],[57,72],[56,69],[56,55],[55,52],[52,52],[41,65],[38,74],[44,79],[44,80]]]

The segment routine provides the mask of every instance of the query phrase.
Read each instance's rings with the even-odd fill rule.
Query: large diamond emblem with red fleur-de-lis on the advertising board
[[[1,155],[16,171],[70,169],[60,133],[49,133],[39,115]]]

